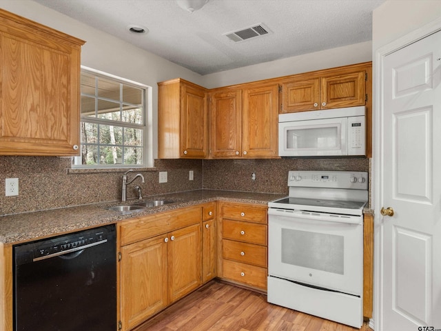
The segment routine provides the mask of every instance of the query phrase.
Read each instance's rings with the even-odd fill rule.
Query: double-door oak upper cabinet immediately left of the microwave
[[[216,90],[209,106],[210,157],[277,157],[278,84]]]

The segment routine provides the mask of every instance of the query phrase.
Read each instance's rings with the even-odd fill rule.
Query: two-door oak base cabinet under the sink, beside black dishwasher
[[[158,226],[158,223],[162,226]],[[132,330],[201,285],[201,223],[202,208],[197,206],[140,217],[121,224],[121,330]],[[176,230],[161,233],[171,228]],[[155,232],[160,234],[140,240],[140,231],[150,235]],[[137,241],[132,242],[134,238]]]

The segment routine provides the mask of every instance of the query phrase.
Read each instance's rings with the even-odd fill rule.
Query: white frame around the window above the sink
[[[81,72],[88,72],[105,79],[110,79],[115,81],[115,83],[124,83],[136,88],[141,88],[144,90],[144,114],[143,125],[133,125],[130,123],[121,122],[121,126],[128,128],[137,128],[143,130],[143,163],[140,164],[93,164],[93,165],[83,165],[81,164],[81,154],[78,157],[73,157],[72,159],[72,169],[115,169],[115,168],[152,168],[153,167],[153,146],[152,146],[152,87],[138,83],[136,81],[131,81],[130,79],[125,79],[122,77],[115,76],[114,74],[108,74],[107,72],[102,72],[85,66],[81,66]],[[88,94],[85,94],[88,95]],[[90,95],[88,95],[90,97]],[[96,97],[96,96],[94,96]],[[84,117],[85,118],[85,117]],[[83,122],[83,117],[81,117],[81,122]],[[105,119],[97,119],[90,117],[88,118],[88,123],[111,125],[115,123],[114,121],[109,121]],[[81,137],[81,134],[80,134]],[[82,142],[80,142],[82,146]]]

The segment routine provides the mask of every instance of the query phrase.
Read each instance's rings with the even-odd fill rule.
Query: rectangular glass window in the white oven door
[[[282,263],[345,274],[345,237],[282,229]]]

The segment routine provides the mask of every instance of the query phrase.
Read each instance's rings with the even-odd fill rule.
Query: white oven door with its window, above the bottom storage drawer
[[[360,224],[271,214],[268,217],[268,273],[360,295],[362,229]]]

